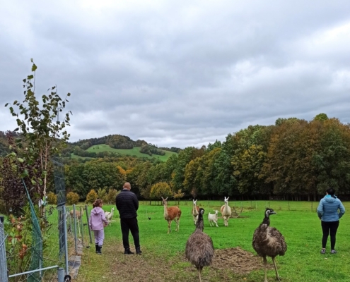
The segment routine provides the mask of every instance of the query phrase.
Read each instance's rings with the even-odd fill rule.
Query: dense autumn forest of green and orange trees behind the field
[[[328,187],[349,195],[350,128],[319,114],[312,121],[279,118],[250,125],[167,161],[132,157],[66,164],[66,187],[83,200],[89,190],[120,190],[124,181],[144,199],[179,193],[201,199],[318,200]],[[159,184],[161,183],[161,185]]]

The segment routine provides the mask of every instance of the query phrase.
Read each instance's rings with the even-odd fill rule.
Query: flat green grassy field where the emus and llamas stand
[[[262,259],[256,257],[252,249],[252,234],[262,222],[264,207],[268,206],[278,213],[271,216],[271,226],[281,231],[288,245],[286,255],[276,257],[283,281],[349,281],[349,212],[341,219],[337,233],[338,254],[329,254],[328,242],[327,254],[321,255],[322,231],[320,220],[315,214],[316,202],[230,202],[231,207],[237,207],[239,211],[243,207],[243,212],[239,218],[231,218],[228,227],[223,226],[223,219],[219,219],[218,228],[209,227],[207,214],[218,209],[222,202],[198,201],[197,204],[205,209],[204,232],[211,236],[216,249],[214,266],[203,271],[204,281],[264,281]],[[350,203],[344,205],[349,211]],[[104,206],[103,209],[110,211],[112,207]],[[94,244],[91,249],[86,249],[77,281],[96,281],[101,277],[103,281],[198,281],[197,271],[184,257],[185,244],[194,231],[190,214],[192,202],[181,202],[180,209],[180,231],[175,232],[173,223],[173,232],[167,234],[168,225],[163,219],[163,207],[140,202],[138,220],[141,250],[144,252],[141,256],[122,254],[119,215],[115,212],[112,225],[105,228],[103,255],[95,254]],[[130,243],[132,246],[132,238]],[[232,262],[229,257],[220,255],[225,250],[228,254],[235,252],[235,247],[246,251],[245,254],[238,255]],[[255,259],[257,270],[245,271],[249,270],[247,264],[252,264],[252,259]],[[268,262],[268,280],[274,281],[272,260],[269,258]]]

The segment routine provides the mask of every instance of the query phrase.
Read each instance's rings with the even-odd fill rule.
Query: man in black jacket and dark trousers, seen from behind
[[[123,190],[119,192],[115,198],[115,205],[119,211],[120,226],[122,228],[122,237],[124,245],[124,254],[131,255],[134,252],[130,251],[129,246],[129,231],[132,232],[136,254],[141,255],[139,225],[137,224],[137,209],[139,209],[139,200],[136,195],[130,191],[132,185],[125,183]]]

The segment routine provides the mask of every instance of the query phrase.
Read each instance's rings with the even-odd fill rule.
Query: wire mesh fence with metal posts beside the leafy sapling
[[[28,205],[23,215],[4,219],[2,227],[7,232],[0,235],[0,255],[4,252],[0,272],[6,276],[0,276],[1,282],[70,281],[65,276],[69,272],[63,164],[53,164],[55,188],[60,195],[57,207],[47,205],[45,199],[34,205],[23,181]]]

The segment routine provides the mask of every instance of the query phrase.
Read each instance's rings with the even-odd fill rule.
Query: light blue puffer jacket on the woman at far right
[[[345,208],[342,202],[337,197],[334,198],[331,195],[325,195],[317,207],[318,217],[326,222],[339,221],[344,213]]]

